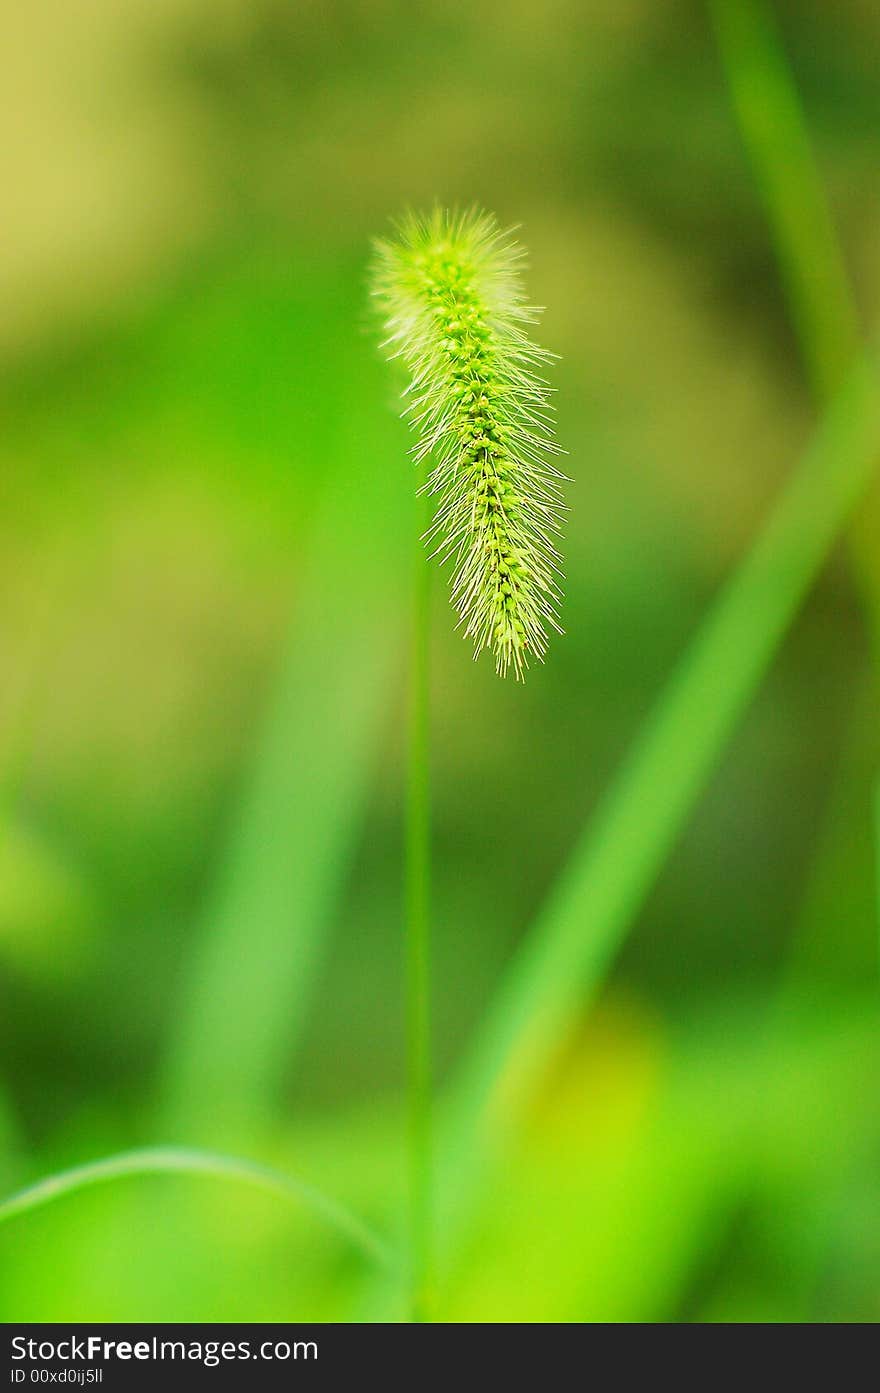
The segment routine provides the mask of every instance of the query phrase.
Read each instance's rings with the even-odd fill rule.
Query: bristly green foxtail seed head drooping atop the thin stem
[[[550,457],[553,354],[533,344],[521,280],[524,249],[473,209],[409,216],[376,242],[372,293],[388,357],[408,373],[416,460],[430,454],[437,497],[429,538],[451,559],[451,599],[475,657],[492,648],[498,673],[522,677],[558,625],[564,475]]]

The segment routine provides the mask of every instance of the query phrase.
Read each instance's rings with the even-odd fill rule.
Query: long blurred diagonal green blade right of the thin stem
[[[880,450],[877,365],[859,362],[752,552],[692,641],[517,951],[454,1080],[444,1217],[466,1198],[693,809]]]

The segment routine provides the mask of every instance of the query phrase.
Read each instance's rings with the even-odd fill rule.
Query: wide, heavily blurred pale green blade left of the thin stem
[[[272,1116],[362,822],[400,648],[408,481],[363,465],[382,444],[354,421],[188,967],[159,1124],[175,1141],[239,1145]]]

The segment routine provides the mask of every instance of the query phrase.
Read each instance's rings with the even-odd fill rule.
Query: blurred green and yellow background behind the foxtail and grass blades
[[[524,687],[434,588],[443,1084],[816,422],[709,17],[1,8],[1,1188],[192,1142],[394,1233],[412,472],[369,240],[434,199],[522,226],[574,479],[567,634]],[[880,14],[776,11],[870,327]],[[478,1197],[444,1319],[880,1316],[872,646],[844,545]],[[7,1321],[400,1314],[308,1213],[220,1181],[0,1227]]]

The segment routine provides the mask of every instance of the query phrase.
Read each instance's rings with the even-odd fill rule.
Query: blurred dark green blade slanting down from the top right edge
[[[824,401],[854,362],[861,334],[801,100],[764,0],[710,0],[710,11],[801,348]]]

